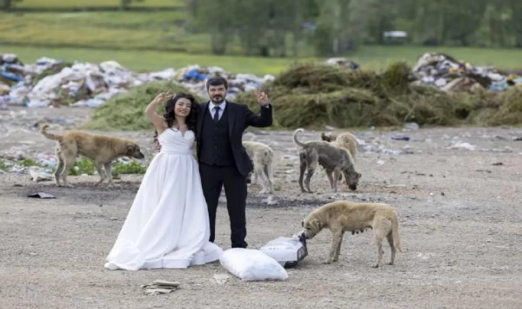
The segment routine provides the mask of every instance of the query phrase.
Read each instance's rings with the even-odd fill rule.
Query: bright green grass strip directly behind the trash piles
[[[522,52],[516,49],[471,49],[471,48],[430,48],[430,47],[361,47],[348,58],[359,62],[365,69],[383,69],[390,62],[402,60],[413,65],[424,52],[445,52],[457,59],[473,65],[493,65],[500,69],[521,69]],[[188,54],[161,51],[133,51],[82,48],[43,48],[23,46],[0,46],[0,54],[14,53],[21,60],[30,63],[47,56],[61,60],[102,62],[117,60],[135,71],[156,71],[167,67],[174,69],[187,65],[216,65],[234,73],[276,74],[286,69],[294,61],[308,61],[314,58],[256,58],[241,56],[212,56],[208,54]]]

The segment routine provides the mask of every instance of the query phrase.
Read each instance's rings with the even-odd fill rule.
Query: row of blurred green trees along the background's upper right
[[[188,0],[212,52],[239,40],[246,55],[299,54],[305,41],[317,54],[361,44],[385,44],[387,31],[407,43],[522,47],[522,0]]]

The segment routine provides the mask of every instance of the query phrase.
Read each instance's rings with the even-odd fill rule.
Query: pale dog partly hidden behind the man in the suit
[[[273,168],[272,163],[274,159],[274,152],[268,145],[262,144],[258,141],[243,141],[243,147],[247,150],[247,155],[253,163],[253,181],[258,182],[258,177],[262,181],[261,194],[273,194]],[[249,174],[247,181],[250,181],[251,174]]]

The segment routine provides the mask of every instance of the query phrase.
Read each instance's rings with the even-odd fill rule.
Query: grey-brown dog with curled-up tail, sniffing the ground
[[[344,148],[332,146],[332,144],[326,141],[308,141],[302,143],[297,139],[297,133],[303,131],[302,128],[299,128],[295,130],[293,134],[294,143],[303,148],[299,151],[299,187],[301,187],[301,192],[307,192],[303,187],[303,178],[305,170],[308,170],[304,184],[308,192],[312,193],[312,190],[310,190],[310,179],[317,168],[317,163],[326,170],[330,187],[332,187],[334,192],[337,192],[337,181],[334,181],[334,179],[339,179],[341,174],[345,176],[346,183],[350,190],[356,190],[361,174],[356,172],[354,160],[350,152]]]

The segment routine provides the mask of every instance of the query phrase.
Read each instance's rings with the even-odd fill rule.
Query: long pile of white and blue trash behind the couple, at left
[[[229,82],[231,98],[237,93],[259,88],[274,77],[232,74],[220,67],[191,65],[149,73],[135,73],[109,60],[99,64],[63,62],[40,58],[26,65],[14,54],[0,55],[0,109],[9,104],[27,107],[98,107],[110,98],[146,82],[174,80],[193,93],[206,97],[205,80],[223,76]]]

